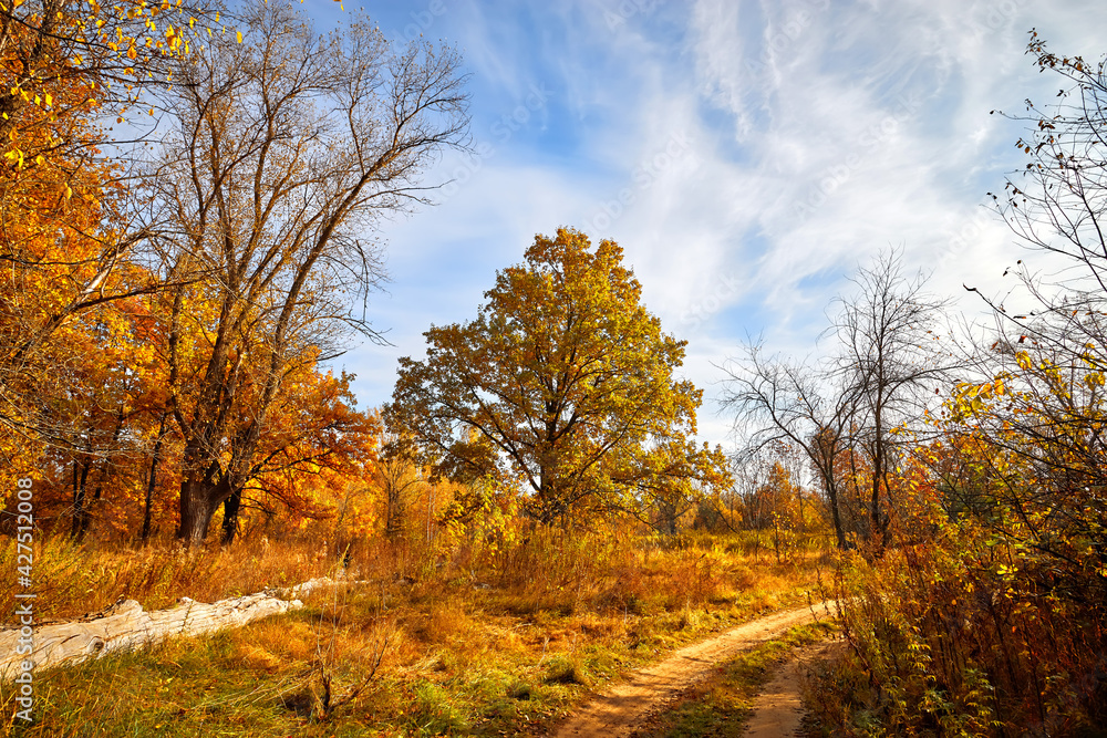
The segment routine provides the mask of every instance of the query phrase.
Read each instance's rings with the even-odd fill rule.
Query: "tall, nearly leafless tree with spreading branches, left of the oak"
[[[393,52],[365,20],[315,34],[289,2],[254,2],[178,64],[173,132],[152,169],[168,254],[168,404],[184,444],[179,536],[201,541],[252,476],[286,377],[325,357],[381,277],[381,214],[466,126],[458,59]]]

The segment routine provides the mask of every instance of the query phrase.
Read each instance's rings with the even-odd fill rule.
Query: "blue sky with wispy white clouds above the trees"
[[[320,28],[345,11],[306,0]],[[726,444],[721,372],[748,337],[815,354],[831,299],[888,247],[932,292],[1006,289],[1033,259],[982,209],[1022,164],[1018,113],[1059,79],[1024,54],[1099,60],[1107,3],[1056,0],[415,0],[372,2],[392,39],[454,45],[472,73],[478,154],[427,173],[434,207],[384,225],[393,346],[352,349],[362,406],[389,401],[422,332],[476,315],[497,269],[559,226],[613,238],[646,306],[689,341],[701,437]],[[1010,278],[1008,278],[1010,279]]]

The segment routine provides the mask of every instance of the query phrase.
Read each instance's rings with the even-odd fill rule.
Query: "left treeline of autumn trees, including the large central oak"
[[[381,413],[323,368],[379,337],[376,219],[426,201],[424,169],[465,143],[452,51],[356,17],[319,35],[287,1],[0,19],[0,454],[37,524],[200,543],[215,522],[229,543],[318,520],[341,550],[741,518],[727,459],[693,440],[686,342],[612,241],[536,237],[476,320],[401,361]]]

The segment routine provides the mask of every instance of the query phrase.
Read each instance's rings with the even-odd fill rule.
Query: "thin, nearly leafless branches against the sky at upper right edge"
[[[1008,270],[1026,289],[1028,310],[984,298],[999,329],[984,363],[1003,357],[1011,365],[1027,351],[1079,375],[1107,363],[1107,60],[1058,56],[1036,31],[1027,53],[1068,86],[1049,110],[1027,100],[1024,114],[1008,116],[1030,126],[1016,142],[1027,162],[1003,193],[989,195],[1030,254],[1059,259],[1047,270],[1032,271],[1023,260]]]

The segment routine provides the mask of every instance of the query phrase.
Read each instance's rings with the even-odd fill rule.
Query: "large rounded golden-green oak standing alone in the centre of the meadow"
[[[685,342],[622,259],[576,230],[537,236],[475,320],[432,328],[426,358],[401,358],[389,426],[435,462],[521,476],[544,523],[725,487],[722,453],[691,440],[702,393],[676,376]]]

